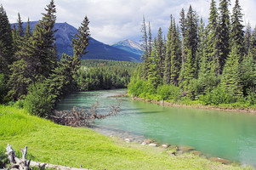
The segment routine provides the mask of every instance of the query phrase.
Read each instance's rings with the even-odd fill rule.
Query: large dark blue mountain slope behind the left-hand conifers
[[[38,21],[31,22],[31,29],[35,28],[35,25]],[[17,24],[13,24],[17,28]],[[12,25],[12,26],[13,26]],[[26,29],[26,22],[23,23],[24,29]],[[77,28],[65,23],[55,23],[54,37],[56,38],[56,48],[58,54],[61,56],[63,53],[72,55],[73,49],[71,47],[71,41],[74,35],[77,33]],[[120,60],[120,61],[131,61],[131,62],[141,62],[141,54],[136,54],[122,48],[112,47],[103,42],[95,40],[93,37],[90,37],[88,43],[88,54],[82,56],[82,59],[111,59],[111,60]]]

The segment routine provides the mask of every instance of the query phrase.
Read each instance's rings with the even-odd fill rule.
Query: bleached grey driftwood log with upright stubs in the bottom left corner
[[[82,168],[80,165],[80,168],[78,167],[66,167],[61,165],[53,165],[49,163],[43,163],[38,161],[27,161],[26,160],[26,153],[27,153],[27,146],[24,150],[20,149],[22,153],[22,158],[18,158],[15,156],[15,151],[12,148],[10,144],[8,144],[6,148],[6,154],[8,155],[8,159],[10,161],[10,167],[8,169],[10,170],[31,170],[31,167],[39,167],[40,169],[44,168],[54,168],[54,169],[61,169],[61,170],[89,170]]]

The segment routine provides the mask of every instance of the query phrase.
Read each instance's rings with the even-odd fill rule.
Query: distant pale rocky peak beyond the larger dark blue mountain
[[[139,55],[143,54],[142,46],[138,42],[134,42],[129,39],[121,41],[121,42],[116,42],[116,43],[112,44],[111,46],[115,47],[115,48],[123,49],[130,53],[139,54]]]

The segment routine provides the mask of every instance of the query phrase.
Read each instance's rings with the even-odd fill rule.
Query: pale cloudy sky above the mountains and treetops
[[[141,22],[143,15],[151,21],[153,35],[159,27],[166,34],[170,24],[170,14],[176,23],[179,21],[181,8],[185,11],[192,5],[203,20],[208,19],[211,0],[55,0],[57,22],[67,22],[78,28],[85,15],[90,20],[91,36],[100,42],[111,44],[124,39],[139,42],[141,39]],[[231,0],[233,7],[235,0]],[[11,23],[16,22],[20,12],[21,19],[26,21],[40,20],[49,0],[0,0]],[[219,4],[219,0],[217,0]],[[256,25],[256,1],[240,0],[244,19]],[[231,11],[231,10],[230,10]]]

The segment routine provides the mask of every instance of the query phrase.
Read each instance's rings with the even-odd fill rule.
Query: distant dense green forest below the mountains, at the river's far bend
[[[77,72],[80,90],[127,88],[131,75],[139,63],[103,59],[82,60]]]

